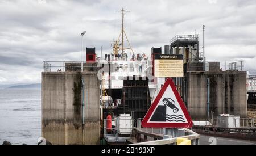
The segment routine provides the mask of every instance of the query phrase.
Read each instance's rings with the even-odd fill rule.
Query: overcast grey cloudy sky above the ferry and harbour
[[[126,32],[135,52],[150,53],[177,34],[199,33],[205,24],[207,60],[245,60],[256,72],[255,0],[0,0],[0,85],[40,83],[44,60],[81,60],[85,44],[104,53],[119,35],[125,7]]]

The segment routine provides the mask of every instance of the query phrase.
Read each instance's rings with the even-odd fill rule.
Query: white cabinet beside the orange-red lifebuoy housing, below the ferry
[[[121,114],[117,117],[116,121],[118,134],[131,134],[133,124],[129,114]]]

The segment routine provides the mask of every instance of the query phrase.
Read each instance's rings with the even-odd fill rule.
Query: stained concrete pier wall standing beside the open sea
[[[82,82],[85,109],[82,127]],[[42,73],[42,137],[52,144],[100,144],[97,73]]]

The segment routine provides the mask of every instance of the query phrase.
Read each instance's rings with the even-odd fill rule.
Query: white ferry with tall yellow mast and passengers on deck
[[[104,54],[98,61],[102,70],[101,114],[114,115],[134,113],[134,119],[143,118],[151,102],[160,90],[159,82],[164,79],[152,77],[151,60],[145,53],[135,53],[124,29],[122,9],[122,28],[119,37],[112,43],[113,50]],[[125,47],[125,39],[128,47]]]

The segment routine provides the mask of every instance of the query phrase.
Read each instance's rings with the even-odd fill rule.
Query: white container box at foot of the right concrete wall
[[[217,116],[218,127],[240,128],[240,116],[221,114]]]

